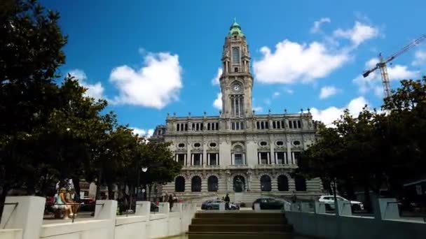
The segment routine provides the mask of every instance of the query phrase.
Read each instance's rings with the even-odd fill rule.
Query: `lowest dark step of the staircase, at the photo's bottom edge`
[[[293,239],[292,233],[188,233],[188,239]]]

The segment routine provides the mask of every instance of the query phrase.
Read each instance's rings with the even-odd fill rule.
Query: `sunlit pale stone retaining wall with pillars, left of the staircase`
[[[43,224],[45,199],[34,196],[6,198],[0,224],[0,239],[148,239],[177,236],[188,231],[195,204],[160,203],[151,214],[151,203],[137,202],[135,215],[116,216],[117,202],[97,201],[95,217],[84,221]],[[31,215],[29,215],[31,212]]]

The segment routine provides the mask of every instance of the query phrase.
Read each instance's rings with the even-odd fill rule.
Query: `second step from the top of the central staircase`
[[[287,219],[259,219],[259,218],[193,218],[192,224],[287,224]]]

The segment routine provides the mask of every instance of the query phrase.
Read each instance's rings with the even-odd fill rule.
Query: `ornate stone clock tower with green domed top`
[[[221,117],[243,122],[252,116],[253,78],[250,73],[249,48],[240,25],[234,20],[225,38],[222,55],[223,73],[219,78],[222,92]],[[245,129],[243,123],[230,126]]]

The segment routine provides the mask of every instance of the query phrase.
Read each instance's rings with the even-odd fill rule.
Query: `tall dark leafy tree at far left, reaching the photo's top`
[[[0,7],[0,211],[8,189],[26,185],[47,170],[27,152],[33,135],[57,106],[57,67],[64,63],[67,37],[59,13],[36,1],[5,0]],[[37,165],[37,166],[36,166]]]

